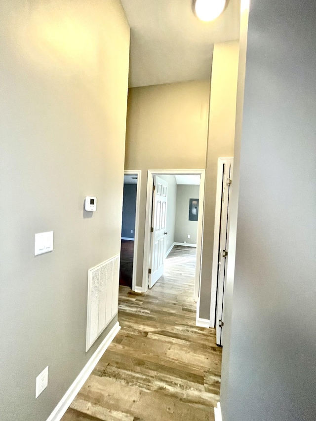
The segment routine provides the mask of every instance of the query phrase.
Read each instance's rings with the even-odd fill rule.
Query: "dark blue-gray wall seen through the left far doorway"
[[[137,184],[124,184],[122,237],[135,237],[136,193]]]

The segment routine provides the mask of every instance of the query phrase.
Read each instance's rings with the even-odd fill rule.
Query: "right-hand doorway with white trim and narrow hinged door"
[[[219,158],[217,167],[210,323],[211,327],[216,328],[216,343],[221,346],[223,345],[223,310],[229,252],[230,192],[233,179],[233,162],[233,158]]]

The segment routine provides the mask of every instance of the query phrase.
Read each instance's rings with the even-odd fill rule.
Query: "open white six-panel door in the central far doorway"
[[[167,195],[168,183],[154,176],[149,288],[152,288],[163,274],[164,238],[167,234]]]

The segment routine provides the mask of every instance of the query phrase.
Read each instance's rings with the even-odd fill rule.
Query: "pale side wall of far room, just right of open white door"
[[[167,222],[165,236],[165,252],[174,243],[174,234],[176,227],[176,204],[177,204],[177,182],[174,175],[160,175],[160,178],[168,183],[168,202],[167,202]]]

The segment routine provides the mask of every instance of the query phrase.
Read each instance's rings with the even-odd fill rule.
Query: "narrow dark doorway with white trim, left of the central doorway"
[[[135,290],[141,171],[124,171],[119,284]]]

